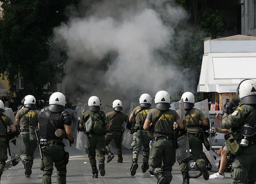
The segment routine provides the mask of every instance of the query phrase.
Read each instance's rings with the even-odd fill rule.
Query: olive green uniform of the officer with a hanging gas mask
[[[241,104],[237,107],[236,111],[229,114],[228,117],[222,119],[222,123],[228,123],[240,134],[241,128],[245,123],[250,124],[252,127],[256,124],[256,105]],[[231,170],[233,184],[248,183],[255,184],[256,181],[256,136],[249,137],[248,147],[243,147],[243,152],[236,155],[234,165]]]

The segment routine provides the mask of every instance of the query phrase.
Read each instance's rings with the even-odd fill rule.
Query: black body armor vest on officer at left
[[[61,112],[54,113],[47,109],[47,112],[51,115],[51,118],[54,121],[55,127],[53,127],[48,117],[44,114],[44,111],[45,109],[42,109],[38,117],[41,136],[44,139],[60,139],[55,135],[55,131],[59,128],[64,130]]]

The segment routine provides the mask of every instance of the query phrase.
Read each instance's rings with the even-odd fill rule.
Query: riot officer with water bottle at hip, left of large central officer
[[[144,122],[147,118],[148,111],[151,109],[152,98],[147,93],[144,93],[140,96],[139,99],[140,105],[133,109],[130,117],[129,123],[131,124],[135,118],[134,124],[134,133],[133,133],[133,142],[132,142],[132,166],[131,166],[131,175],[134,176],[138,168],[138,157],[139,152],[142,147],[143,151],[143,164],[141,165],[142,173],[145,173],[148,168],[148,158],[149,158],[149,141],[150,137],[148,136],[148,131],[143,129]]]

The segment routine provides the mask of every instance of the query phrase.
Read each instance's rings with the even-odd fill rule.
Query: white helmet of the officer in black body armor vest
[[[64,111],[66,103],[66,96],[60,92],[55,92],[50,96],[48,109],[52,112]]]

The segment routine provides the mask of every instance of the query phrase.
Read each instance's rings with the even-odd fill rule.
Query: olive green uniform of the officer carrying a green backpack
[[[82,114],[82,117],[80,119],[80,124],[83,125],[83,121],[87,116],[93,116],[96,117],[96,121],[97,119],[100,119],[102,121],[102,132],[96,134],[91,132],[91,134],[88,135],[89,137],[89,141],[90,141],[90,147],[86,147],[86,153],[88,154],[89,160],[90,160],[90,164],[92,166],[92,168],[96,167],[96,151],[97,150],[97,157],[98,160],[103,160],[105,161],[105,154],[108,152],[106,149],[106,144],[105,144],[105,136],[104,136],[104,132],[103,129],[104,127],[109,123],[107,117],[105,116],[105,113],[103,111],[85,111]],[[99,122],[99,121],[98,121]],[[96,122],[93,122],[93,124]],[[88,145],[88,142],[87,142]]]

